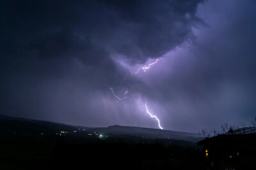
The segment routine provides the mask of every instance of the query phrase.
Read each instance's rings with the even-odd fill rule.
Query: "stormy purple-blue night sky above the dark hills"
[[[3,0],[0,114],[159,128],[147,100],[168,130],[250,125],[255,9],[253,0]]]

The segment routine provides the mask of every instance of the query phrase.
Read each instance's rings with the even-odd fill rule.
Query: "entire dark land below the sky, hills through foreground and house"
[[[118,125],[90,128],[0,116],[0,166],[1,169],[253,169],[255,129],[248,134],[204,139],[198,134],[154,128]],[[205,150],[209,155],[205,155]]]

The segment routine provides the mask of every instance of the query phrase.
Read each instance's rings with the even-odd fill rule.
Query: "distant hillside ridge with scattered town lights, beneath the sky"
[[[202,137],[198,134],[188,132],[177,132],[172,130],[160,130],[155,128],[141,127],[124,127],[114,125],[106,128],[89,128],[82,126],[65,125],[62,123],[53,123],[51,121],[29,120],[25,118],[13,118],[10,116],[0,115],[0,135],[56,135],[61,131],[69,132],[69,135],[88,135],[89,133],[97,133],[104,135],[129,135],[134,137],[145,138],[163,138],[198,142]],[[84,133],[74,133],[84,132]]]

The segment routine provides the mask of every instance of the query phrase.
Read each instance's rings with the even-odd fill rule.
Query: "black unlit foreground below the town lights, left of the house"
[[[205,169],[195,143],[139,137],[1,139],[0,169]]]

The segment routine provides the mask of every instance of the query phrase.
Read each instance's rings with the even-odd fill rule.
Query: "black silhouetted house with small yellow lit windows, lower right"
[[[256,169],[256,134],[224,134],[198,142],[207,169]]]

